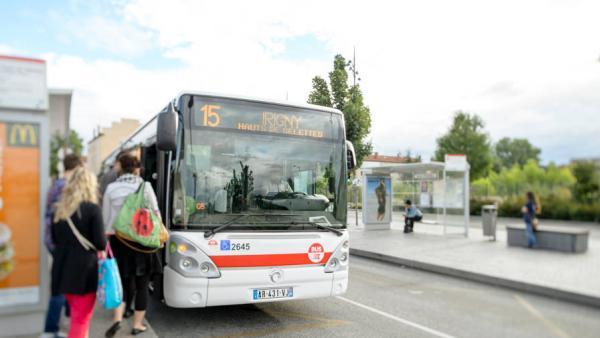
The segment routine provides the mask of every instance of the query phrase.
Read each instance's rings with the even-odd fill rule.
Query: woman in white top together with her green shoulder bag
[[[121,328],[123,317],[131,316],[125,304],[129,306],[132,302],[135,312],[131,334],[146,331],[143,322],[148,284],[153,274],[161,272],[157,250],[166,235],[154,190],[139,176],[140,161],[130,153],[119,156],[117,161],[121,167],[119,177],[106,188],[102,211],[105,231],[123,282],[124,303],[115,310],[114,322],[106,331],[106,337],[113,337]]]

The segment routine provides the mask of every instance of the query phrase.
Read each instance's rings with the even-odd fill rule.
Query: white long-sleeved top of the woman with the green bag
[[[102,218],[104,219],[104,232],[107,235],[114,235],[115,230],[112,225],[117,219],[119,211],[121,211],[121,207],[125,203],[125,199],[130,194],[136,192],[142,183],[144,183],[144,180],[139,176],[125,174],[106,187],[104,197],[102,198]],[[154,189],[152,189],[152,185],[149,182],[145,182],[145,184],[144,197],[146,197],[146,202],[150,209],[160,217]]]

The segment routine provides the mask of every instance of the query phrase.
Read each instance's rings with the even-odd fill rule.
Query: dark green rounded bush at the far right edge
[[[597,203],[600,201],[600,175],[598,166],[592,161],[577,161],[572,167],[575,176],[573,195],[581,203]]]

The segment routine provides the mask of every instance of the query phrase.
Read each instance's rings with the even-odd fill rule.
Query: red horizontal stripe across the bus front
[[[241,268],[253,266],[279,266],[279,265],[308,265],[325,264],[331,257],[331,252],[326,252],[325,257],[315,263],[308,259],[308,254],[271,254],[271,255],[239,255],[239,256],[211,256],[210,258],[219,268]]]

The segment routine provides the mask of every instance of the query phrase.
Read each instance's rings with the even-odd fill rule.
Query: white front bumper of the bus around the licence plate
[[[164,296],[179,308],[264,303],[340,295],[348,288],[348,270],[325,273],[323,266],[221,269],[219,278],[188,278],[166,266]],[[281,278],[273,282],[271,276]],[[254,299],[254,290],[292,288],[293,296]]]

